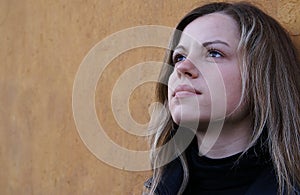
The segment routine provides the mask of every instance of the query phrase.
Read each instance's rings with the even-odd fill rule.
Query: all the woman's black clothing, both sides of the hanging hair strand
[[[277,181],[268,152],[256,145],[239,159],[236,154],[223,159],[210,159],[198,155],[197,142],[185,151],[189,182],[184,195],[276,195]],[[175,159],[164,169],[156,193],[176,195],[183,179],[183,170],[179,159]],[[151,179],[146,187],[151,186]]]

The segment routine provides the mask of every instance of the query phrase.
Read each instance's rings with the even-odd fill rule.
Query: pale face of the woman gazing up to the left
[[[168,82],[169,109],[177,124],[233,121],[248,115],[245,105],[239,106],[239,39],[235,21],[221,13],[186,26],[174,50],[175,67]]]

